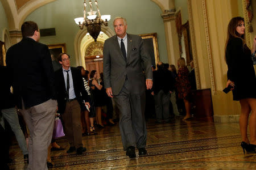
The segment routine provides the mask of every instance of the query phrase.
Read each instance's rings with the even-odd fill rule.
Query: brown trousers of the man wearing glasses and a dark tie
[[[82,147],[81,108],[77,100],[66,103],[63,121],[69,145],[76,149]]]

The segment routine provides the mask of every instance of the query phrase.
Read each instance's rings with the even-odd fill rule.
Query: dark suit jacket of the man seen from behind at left
[[[25,37],[6,54],[11,70],[16,105],[29,108],[55,99],[52,59],[47,45]]]

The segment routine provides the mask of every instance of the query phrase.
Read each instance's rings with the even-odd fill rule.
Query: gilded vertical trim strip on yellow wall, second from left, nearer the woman
[[[209,70],[210,70],[210,85],[212,88],[212,94],[216,95],[216,86],[215,86],[215,78],[214,78],[214,70],[213,70],[213,62],[212,62],[212,49],[210,49],[207,6],[205,3],[205,0],[201,0],[201,1],[202,1],[203,14],[204,14],[205,37],[206,37],[206,42],[207,42],[207,54],[208,54]]]

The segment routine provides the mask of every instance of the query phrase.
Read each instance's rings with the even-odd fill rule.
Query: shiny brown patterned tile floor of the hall
[[[51,169],[256,169],[256,154],[243,154],[236,123],[181,121],[147,122],[148,154],[129,159],[122,148],[119,126],[106,126],[98,135],[83,137],[82,155],[52,151]],[[65,138],[57,143],[68,149]],[[18,145],[11,146],[11,169],[26,169]]]

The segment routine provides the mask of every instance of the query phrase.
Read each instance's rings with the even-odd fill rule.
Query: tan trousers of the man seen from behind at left
[[[51,143],[55,112],[57,109],[56,100],[48,100],[42,104],[24,109],[22,105],[22,114],[30,131],[28,141],[28,159],[29,170],[48,169],[47,151]]]

